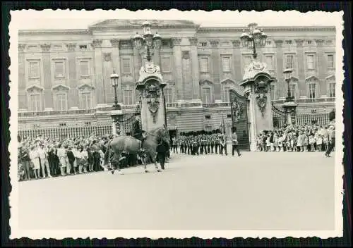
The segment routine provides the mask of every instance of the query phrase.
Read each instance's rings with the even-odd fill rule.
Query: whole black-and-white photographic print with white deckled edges
[[[342,237],[342,29],[11,11],[11,239]]]

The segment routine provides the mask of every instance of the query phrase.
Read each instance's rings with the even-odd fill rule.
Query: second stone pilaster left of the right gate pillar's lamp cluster
[[[218,45],[220,42],[217,40],[210,40],[210,44],[212,47],[211,50],[211,64],[212,64],[212,71],[211,76],[213,77],[213,84],[214,84],[214,99],[220,100],[222,99],[221,95],[221,85],[220,85],[220,49]]]

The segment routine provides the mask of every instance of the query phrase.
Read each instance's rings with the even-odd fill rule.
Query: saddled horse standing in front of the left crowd
[[[150,132],[145,132],[145,140],[143,142],[142,147],[145,150],[146,154],[149,155],[152,159],[152,163],[155,163],[155,168],[157,172],[161,172],[160,168],[158,168],[157,166],[156,161],[156,148],[159,144],[158,141],[161,139],[167,141],[167,132],[166,128],[164,127],[155,128]],[[121,161],[121,159],[124,159],[124,157],[121,157],[122,154],[138,154],[140,152],[140,143],[140,140],[128,135],[120,135],[118,137],[114,137],[114,139],[108,142],[107,151],[104,154],[102,166],[106,166],[107,163],[109,164],[111,150],[114,151],[114,157],[116,161]],[[114,171],[116,169],[115,167],[117,167],[120,174],[123,174],[121,173],[119,163],[117,164],[117,166],[109,167],[111,169],[112,174],[114,174]],[[148,173],[149,171],[147,170],[147,165],[144,164],[143,167],[145,169],[145,173]]]

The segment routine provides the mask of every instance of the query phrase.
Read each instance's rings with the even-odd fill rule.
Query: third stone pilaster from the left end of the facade
[[[78,108],[78,77],[76,72],[76,43],[66,44],[68,49],[68,106],[70,108]]]

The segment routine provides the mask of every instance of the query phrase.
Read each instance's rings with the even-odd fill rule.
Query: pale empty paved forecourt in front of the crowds
[[[20,182],[20,228],[334,228],[334,159],[322,153],[179,154],[166,166]]]

